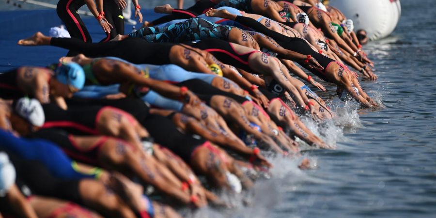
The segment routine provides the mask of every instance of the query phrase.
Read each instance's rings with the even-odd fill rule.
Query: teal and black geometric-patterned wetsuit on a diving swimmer
[[[144,27],[129,34],[142,37],[148,42],[189,42],[203,38],[228,39],[231,26],[219,25],[202,18],[190,18],[166,28]]]

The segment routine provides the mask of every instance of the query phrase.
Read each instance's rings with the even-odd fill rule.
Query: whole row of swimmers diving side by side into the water
[[[217,191],[249,191],[302,143],[333,149],[302,122],[335,113],[291,76],[326,91],[296,63],[362,107],[379,105],[345,64],[377,77],[352,23],[308,2],[199,0],[156,7],[169,15],[109,42],[19,40],[69,55],[0,74],[0,211],[180,217],[174,208],[231,207]]]

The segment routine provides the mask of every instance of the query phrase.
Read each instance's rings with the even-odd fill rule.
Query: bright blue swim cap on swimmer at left
[[[78,90],[81,90],[85,85],[85,72],[77,63],[62,63],[55,72],[55,78],[65,85],[71,85]]]

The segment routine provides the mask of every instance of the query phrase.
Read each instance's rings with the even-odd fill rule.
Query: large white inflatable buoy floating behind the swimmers
[[[401,16],[400,0],[329,0],[354,22],[354,30],[363,29],[370,40],[388,36]]]

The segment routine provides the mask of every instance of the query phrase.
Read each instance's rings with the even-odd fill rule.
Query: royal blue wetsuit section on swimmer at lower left
[[[46,140],[28,140],[17,138],[12,133],[0,129],[0,148],[8,150],[26,160],[36,160],[43,163],[54,176],[61,179],[94,178],[75,171],[72,160],[57,147]]]

